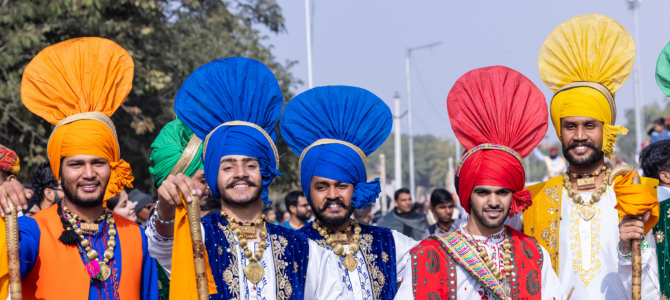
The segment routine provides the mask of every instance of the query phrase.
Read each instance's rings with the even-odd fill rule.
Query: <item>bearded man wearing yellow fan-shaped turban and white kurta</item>
[[[545,259],[551,259],[566,293],[574,287],[575,299],[629,299],[630,241],[647,233],[642,298],[660,296],[649,232],[659,214],[657,182],[643,178],[642,185],[632,185],[637,174],[629,173],[612,184],[605,164],[618,135],[628,132],[615,125],[614,93],[628,79],[634,58],[630,34],[602,15],[564,22],[540,50],[540,75],[555,93],[551,121],[569,166],[565,174],[530,186],[533,205],[510,224],[548,250]]]

